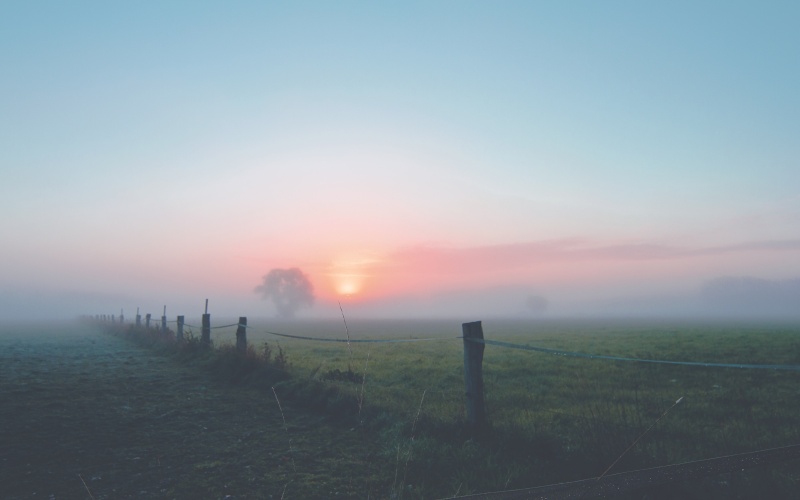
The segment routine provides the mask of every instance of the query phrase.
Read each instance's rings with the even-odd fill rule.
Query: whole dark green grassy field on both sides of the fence
[[[232,377],[220,361],[227,358],[146,350],[84,327],[57,342],[31,332],[0,335],[0,411],[11,423],[0,432],[19,447],[3,452],[0,484],[16,485],[3,496],[28,498],[37,485],[52,484],[50,493],[69,486],[74,495],[61,496],[80,497],[87,490],[79,473],[95,498],[445,498],[552,484],[602,474],[680,397],[611,473],[800,443],[800,372],[491,345],[484,380],[492,429],[473,438],[463,425],[459,321],[348,318],[348,326],[352,340],[435,340],[348,346],[267,333],[345,339],[341,321],[251,322],[255,353],[266,343],[274,362],[282,352],[291,376],[259,385],[253,376]],[[490,319],[483,326],[487,339],[591,354],[800,364],[796,324]],[[232,344],[234,331],[214,330],[215,346]],[[72,423],[60,423],[67,413]],[[94,423],[81,431],[81,418]],[[78,431],[66,432],[70,426]],[[65,458],[76,465],[63,479],[48,479]],[[794,461],[630,498],[794,498],[798,487]]]

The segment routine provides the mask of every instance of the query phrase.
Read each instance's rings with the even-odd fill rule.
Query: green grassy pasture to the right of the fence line
[[[251,322],[248,340],[285,353],[291,379],[276,383],[281,397],[379,436],[382,460],[394,463],[396,498],[596,477],[680,397],[610,473],[800,443],[798,372],[576,359],[491,345],[483,365],[491,432],[473,438],[463,420],[458,321],[348,318],[348,325],[353,339],[441,340],[348,346],[264,333],[345,338],[341,323],[324,321]],[[800,364],[796,324],[488,320],[483,326],[487,339],[591,354]],[[214,332],[223,353],[232,349],[233,330]],[[232,366],[225,373],[235,372]],[[790,498],[798,486],[800,468],[787,463],[655,493]]]

